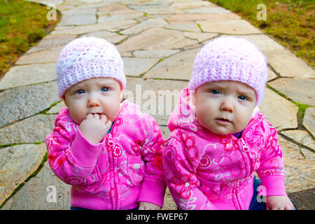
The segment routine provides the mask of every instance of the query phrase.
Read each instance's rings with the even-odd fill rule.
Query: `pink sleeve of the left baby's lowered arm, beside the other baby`
[[[150,202],[163,207],[166,190],[162,167],[164,139],[155,119],[145,116],[146,118],[143,120],[145,138],[141,143],[141,157],[145,163],[145,174],[137,202]]]

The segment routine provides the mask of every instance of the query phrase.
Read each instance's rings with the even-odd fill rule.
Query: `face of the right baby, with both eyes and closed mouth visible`
[[[193,97],[198,122],[215,134],[244,130],[255,108],[255,91],[244,83],[224,80],[200,86]]]

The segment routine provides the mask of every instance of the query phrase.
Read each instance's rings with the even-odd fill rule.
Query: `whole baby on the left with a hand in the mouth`
[[[125,100],[119,52],[77,38],[57,61],[61,109],[45,139],[52,171],[71,187],[71,209],[160,209],[165,195],[162,132]]]

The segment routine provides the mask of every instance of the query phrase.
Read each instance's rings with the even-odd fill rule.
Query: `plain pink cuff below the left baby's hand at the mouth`
[[[90,141],[85,139],[83,134],[78,131],[76,132],[76,137],[74,138],[71,148],[71,154],[74,160],[78,162],[79,165],[85,167],[94,166],[97,162],[97,156],[99,151],[101,151],[102,146],[104,146],[105,138],[99,144],[91,144]]]

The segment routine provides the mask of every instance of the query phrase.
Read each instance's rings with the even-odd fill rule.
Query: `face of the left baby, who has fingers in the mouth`
[[[104,114],[113,121],[120,110],[123,92],[113,78],[90,78],[72,85],[64,94],[71,118],[78,124],[89,113]]]

